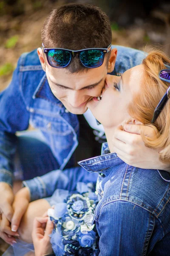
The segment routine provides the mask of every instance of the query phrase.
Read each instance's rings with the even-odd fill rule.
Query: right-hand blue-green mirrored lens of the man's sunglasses
[[[85,67],[99,67],[103,63],[104,53],[96,49],[85,50],[80,52],[79,58]]]

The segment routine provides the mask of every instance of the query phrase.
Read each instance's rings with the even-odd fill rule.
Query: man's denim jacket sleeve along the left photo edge
[[[13,73],[11,84],[0,93],[0,181],[12,185],[13,159],[16,151],[16,131],[28,128],[29,113],[21,92],[19,63]]]

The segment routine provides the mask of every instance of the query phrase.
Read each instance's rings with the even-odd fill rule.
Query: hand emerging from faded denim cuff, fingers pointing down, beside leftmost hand
[[[20,189],[14,198],[14,203],[12,205],[14,209],[14,215],[11,219],[11,230],[17,231],[20,226],[21,218],[28,208],[30,201],[29,191],[26,187]]]

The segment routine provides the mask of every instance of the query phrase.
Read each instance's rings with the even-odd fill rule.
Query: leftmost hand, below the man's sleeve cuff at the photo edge
[[[8,244],[16,242],[14,236],[18,236],[17,232],[11,231],[13,201],[14,193],[11,186],[5,182],[0,182],[0,237]]]

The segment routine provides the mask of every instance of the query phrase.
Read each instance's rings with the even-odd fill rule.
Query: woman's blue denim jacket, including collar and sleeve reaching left
[[[170,174],[129,166],[108,153],[107,143],[102,151],[102,156],[80,161],[84,169],[56,170],[24,181],[31,200],[97,179],[93,223],[100,236],[99,256],[170,255]]]

